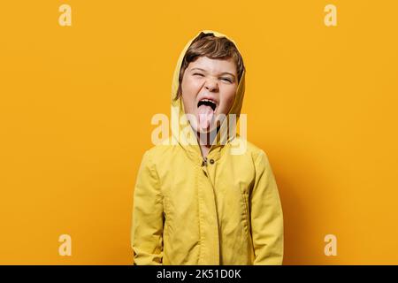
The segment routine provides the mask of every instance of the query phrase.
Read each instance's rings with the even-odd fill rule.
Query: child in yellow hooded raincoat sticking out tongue
[[[134,264],[282,264],[268,158],[250,142],[233,154],[243,138],[220,130],[223,117],[239,118],[244,84],[241,54],[226,35],[203,31],[182,50],[172,81],[178,124],[145,152],[135,184]]]

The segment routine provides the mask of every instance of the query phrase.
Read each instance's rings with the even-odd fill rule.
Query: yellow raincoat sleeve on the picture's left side
[[[133,203],[131,246],[134,265],[162,265],[163,196],[149,151],[142,157]]]

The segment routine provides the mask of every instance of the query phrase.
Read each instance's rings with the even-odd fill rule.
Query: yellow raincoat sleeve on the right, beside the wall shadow
[[[263,150],[256,157],[256,180],[250,195],[255,265],[282,264],[283,214],[278,187]]]

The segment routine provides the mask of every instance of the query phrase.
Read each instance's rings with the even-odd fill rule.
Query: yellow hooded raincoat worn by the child
[[[172,98],[192,41],[175,68]],[[228,113],[237,118],[244,89],[245,73]],[[134,188],[134,264],[282,264],[283,215],[267,155],[239,134],[220,131],[204,160],[184,113],[181,98],[172,100],[178,119],[171,137],[142,157]]]

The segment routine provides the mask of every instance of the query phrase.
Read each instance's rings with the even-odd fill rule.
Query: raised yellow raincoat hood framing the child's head
[[[186,116],[184,110],[184,103],[182,102],[182,96],[180,96],[177,100],[175,100],[175,96],[177,94],[179,88],[179,78],[180,78],[180,69],[184,59],[184,56],[191,45],[191,43],[195,40],[195,38],[201,34],[214,34],[217,37],[226,37],[228,40],[235,44],[236,48],[237,44],[226,34],[221,34],[219,32],[213,30],[203,30],[195,35],[184,47],[184,49],[180,53],[180,57],[177,61],[177,65],[175,67],[173,77],[172,77],[172,142],[179,143],[184,149],[188,151],[188,155],[194,157],[197,153],[200,153],[199,144],[197,142],[196,134],[193,128],[188,123],[188,118]],[[239,49],[238,49],[239,50]],[[239,50],[240,51],[240,50]],[[241,51],[240,51],[241,53]],[[238,122],[241,115],[241,107],[243,104],[243,96],[245,93],[245,73],[243,70],[241,74],[241,80],[239,80],[238,87],[236,89],[236,93],[233,99],[233,105],[231,109],[226,114],[226,119],[223,120],[216,138],[211,144],[211,150],[219,150],[220,147],[226,145],[228,142],[232,142],[236,136],[239,134],[236,133],[236,123]],[[233,118],[233,119],[231,119]]]

